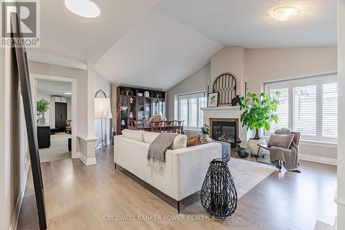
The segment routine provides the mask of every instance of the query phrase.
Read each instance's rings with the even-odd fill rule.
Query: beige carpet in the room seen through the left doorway
[[[50,147],[39,149],[41,163],[70,158],[71,153],[68,151],[68,138],[71,136],[65,133],[50,135]]]

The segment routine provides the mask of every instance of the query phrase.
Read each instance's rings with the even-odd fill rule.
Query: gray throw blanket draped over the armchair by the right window
[[[276,129],[275,134],[290,134],[290,129]],[[282,147],[270,147],[270,163],[279,168],[279,160],[284,163],[284,167],[288,171],[299,171],[298,168],[298,147],[293,141],[289,149]]]

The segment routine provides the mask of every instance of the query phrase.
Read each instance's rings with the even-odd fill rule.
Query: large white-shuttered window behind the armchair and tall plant
[[[266,83],[271,95],[279,90],[277,116],[270,124],[270,135],[278,127],[301,132],[304,140],[337,140],[337,76],[315,76],[306,79]]]

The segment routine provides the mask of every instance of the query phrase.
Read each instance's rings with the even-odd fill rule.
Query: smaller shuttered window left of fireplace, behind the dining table
[[[184,120],[186,129],[199,129],[204,123],[204,117],[200,108],[205,107],[204,92],[184,94],[178,96],[178,119]]]

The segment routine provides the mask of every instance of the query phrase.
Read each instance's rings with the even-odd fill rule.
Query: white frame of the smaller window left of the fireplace
[[[183,99],[187,99],[187,117],[188,121],[186,125],[186,122],[184,123],[184,129],[189,129],[189,130],[200,130],[201,127],[199,127],[199,98],[204,97],[204,107],[206,106],[206,92],[195,92],[195,93],[190,93],[190,94],[179,94],[177,95],[177,118],[179,121],[181,121],[181,103],[180,101]],[[197,98],[197,127],[191,127],[190,125],[190,104],[189,104],[189,99],[190,98]],[[202,114],[202,113],[201,113]]]

